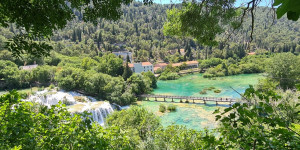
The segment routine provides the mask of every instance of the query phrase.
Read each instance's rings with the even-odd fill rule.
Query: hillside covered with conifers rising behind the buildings
[[[100,55],[103,51],[129,50],[138,61],[152,59],[178,62],[170,50],[192,49],[192,54],[184,59],[205,57],[243,57],[247,52],[300,52],[300,21],[286,18],[275,20],[272,25],[270,9],[258,8],[255,15],[254,41],[246,49],[250,36],[250,18],[243,29],[231,36],[228,43],[220,42],[217,47],[206,47],[195,43],[191,38],[167,37],[163,34],[166,10],[176,5],[153,4],[144,6],[135,2],[123,8],[123,17],[116,21],[100,20],[98,25],[82,21],[82,14],[75,11],[76,19],[67,27],[55,32],[52,37],[54,50],[68,56]],[[192,18],[191,18],[192,19]],[[17,32],[14,26],[0,29],[0,50],[3,42]],[[249,46],[249,45],[248,45]],[[177,54],[178,55],[178,54]]]

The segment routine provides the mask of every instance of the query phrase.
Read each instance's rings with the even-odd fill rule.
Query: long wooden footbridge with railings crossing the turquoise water
[[[150,101],[149,98],[154,98],[155,101],[157,101],[158,98],[163,98],[164,102],[167,102],[166,99],[171,99],[171,102],[174,102],[174,99],[180,100],[179,102],[182,103],[183,100],[185,100],[185,103],[196,103],[196,102],[203,102],[206,104],[207,101],[216,102],[216,105],[218,105],[218,102],[227,102],[229,105],[231,103],[236,102],[235,98],[221,98],[221,97],[193,97],[193,96],[171,96],[171,95],[151,95],[151,94],[142,94],[139,95],[141,98],[146,98],[146,100]]]

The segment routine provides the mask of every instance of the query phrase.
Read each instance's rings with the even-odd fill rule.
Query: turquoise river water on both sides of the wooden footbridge
[[[243,93],[249,85],[257,84],[260,78],[263,78],[261,74],[242,74],[216,79],[203,78],[202,74],[192,74],[181,77],[178,80],[158,81],[158,88],[153,91],[153,94],[240,98],[239,93]],[[206,94],[199,93],[204,88],[209,87],[215,87],[215,89],[221,90],[221,93],[214,93],[214,90],[207,90]],[[177,105],[176,112],[160,113],[158,111],[160,104],[168,106],[171,103],[143,101],[139,102],[139,104],[159,115],[164,126],[177,124],[196,130],[216,127],[217,122],[215,122],[215,116],[212,113],[217,108],[224,109],[228,107],[228,104],[216,106],[215,103],[207,103],[206,105],[174,103],[174,105]]]

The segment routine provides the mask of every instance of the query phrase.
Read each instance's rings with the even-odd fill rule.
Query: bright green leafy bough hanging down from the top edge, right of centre
[[[224,29],[222,25],[230,25],[236,16],[234,2],[208,0],[202,3],[183,3],[182,9],[167,11],[164,34],[191,36],[199,44],[216,45],[216,35]]]

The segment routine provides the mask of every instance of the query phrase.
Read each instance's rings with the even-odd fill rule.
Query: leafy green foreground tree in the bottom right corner
[[[274,91],[248,88],[243,103],[235,103],[222,113],[215,111],[225,149],[299,149],[299,133],[292,129],[293,118],[299,117],[294,112],[299,104]]]

